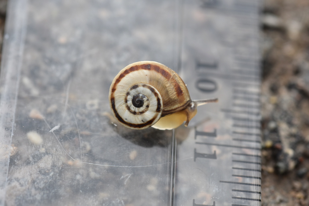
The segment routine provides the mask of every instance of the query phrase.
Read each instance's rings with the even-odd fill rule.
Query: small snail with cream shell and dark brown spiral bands
[[[112,81],[109,103],[120,124],[131,129],[173,129],[196,115],[197,106],[218,99],[191,100],[175,71],[155,61],[126,66]]]

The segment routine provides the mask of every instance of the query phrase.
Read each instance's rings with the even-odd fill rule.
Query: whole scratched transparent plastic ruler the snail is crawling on
[[[260,205],[257,11],[236,0],[11,0],[0,205]],[[122,127],[109,86],[144,60],[219,103],[188,128]]]

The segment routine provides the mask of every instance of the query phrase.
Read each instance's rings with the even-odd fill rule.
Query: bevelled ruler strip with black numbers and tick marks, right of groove
[[[184,1],[181,76],[198,108],[177,132],[175,205],[261,204],[258,1]]]

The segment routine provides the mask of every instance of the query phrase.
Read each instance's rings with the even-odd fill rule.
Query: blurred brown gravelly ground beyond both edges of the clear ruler
[[[309,205],[309,0],[264,0],[260,31],[262,205]]]

